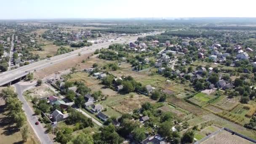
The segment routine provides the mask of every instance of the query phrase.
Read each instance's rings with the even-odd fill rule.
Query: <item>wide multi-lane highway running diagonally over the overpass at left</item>
[[[148,34],[148,35],[156,35],[156,34],[160,34],[160,33],[161,32],[157,32],[157,33]],[[126,38],[125,40],[116,40],[113,43],[130,43],[130,42],[136,41],[137,38],[138,38],[138,36],[129,37],[128,39]],[[34,70],[39,70],[39,69],[43,69],[45,67],[49,67],[49,66],[59,63],[61,61],[64,61],[67,59],[72,59],[75,56],[77,56],[78,53],[81,53],[81,54],[93,53],[96,49],[107,48],[110,44],[112,44],[112,42],[93,44],[90,47],[84,47],[84,48],[80,48],[75,51],[72,51],[70,53],[65,53],[65,54],[62,54],[59,56],[53,56],[53,57],[51,57],[50,60],[44,59],[42,61],[38,61],[33,64],[29,64],[29,65],[20,67],[18,69],[13,69],[8,72],[3,72],[2,74],[0,74],[0,86],[10,83],[11,81],[18,79],[21,76],[24,76],[26,74],[26,71],[33,72]]]

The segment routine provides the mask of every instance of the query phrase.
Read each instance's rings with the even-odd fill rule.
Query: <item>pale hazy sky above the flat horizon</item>
[[[0,19],[256,17],[256,0],[0,1]]]

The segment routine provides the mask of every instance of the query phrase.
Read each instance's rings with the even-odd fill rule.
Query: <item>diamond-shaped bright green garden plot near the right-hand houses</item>
[[[205,93],[197,93],[195,96],[192,98],[188,99],[194,104],[197,104],[198,106],[204,106],[210,101],[211,99],[215,98],[215,96],[212,95],[207,95]]]

